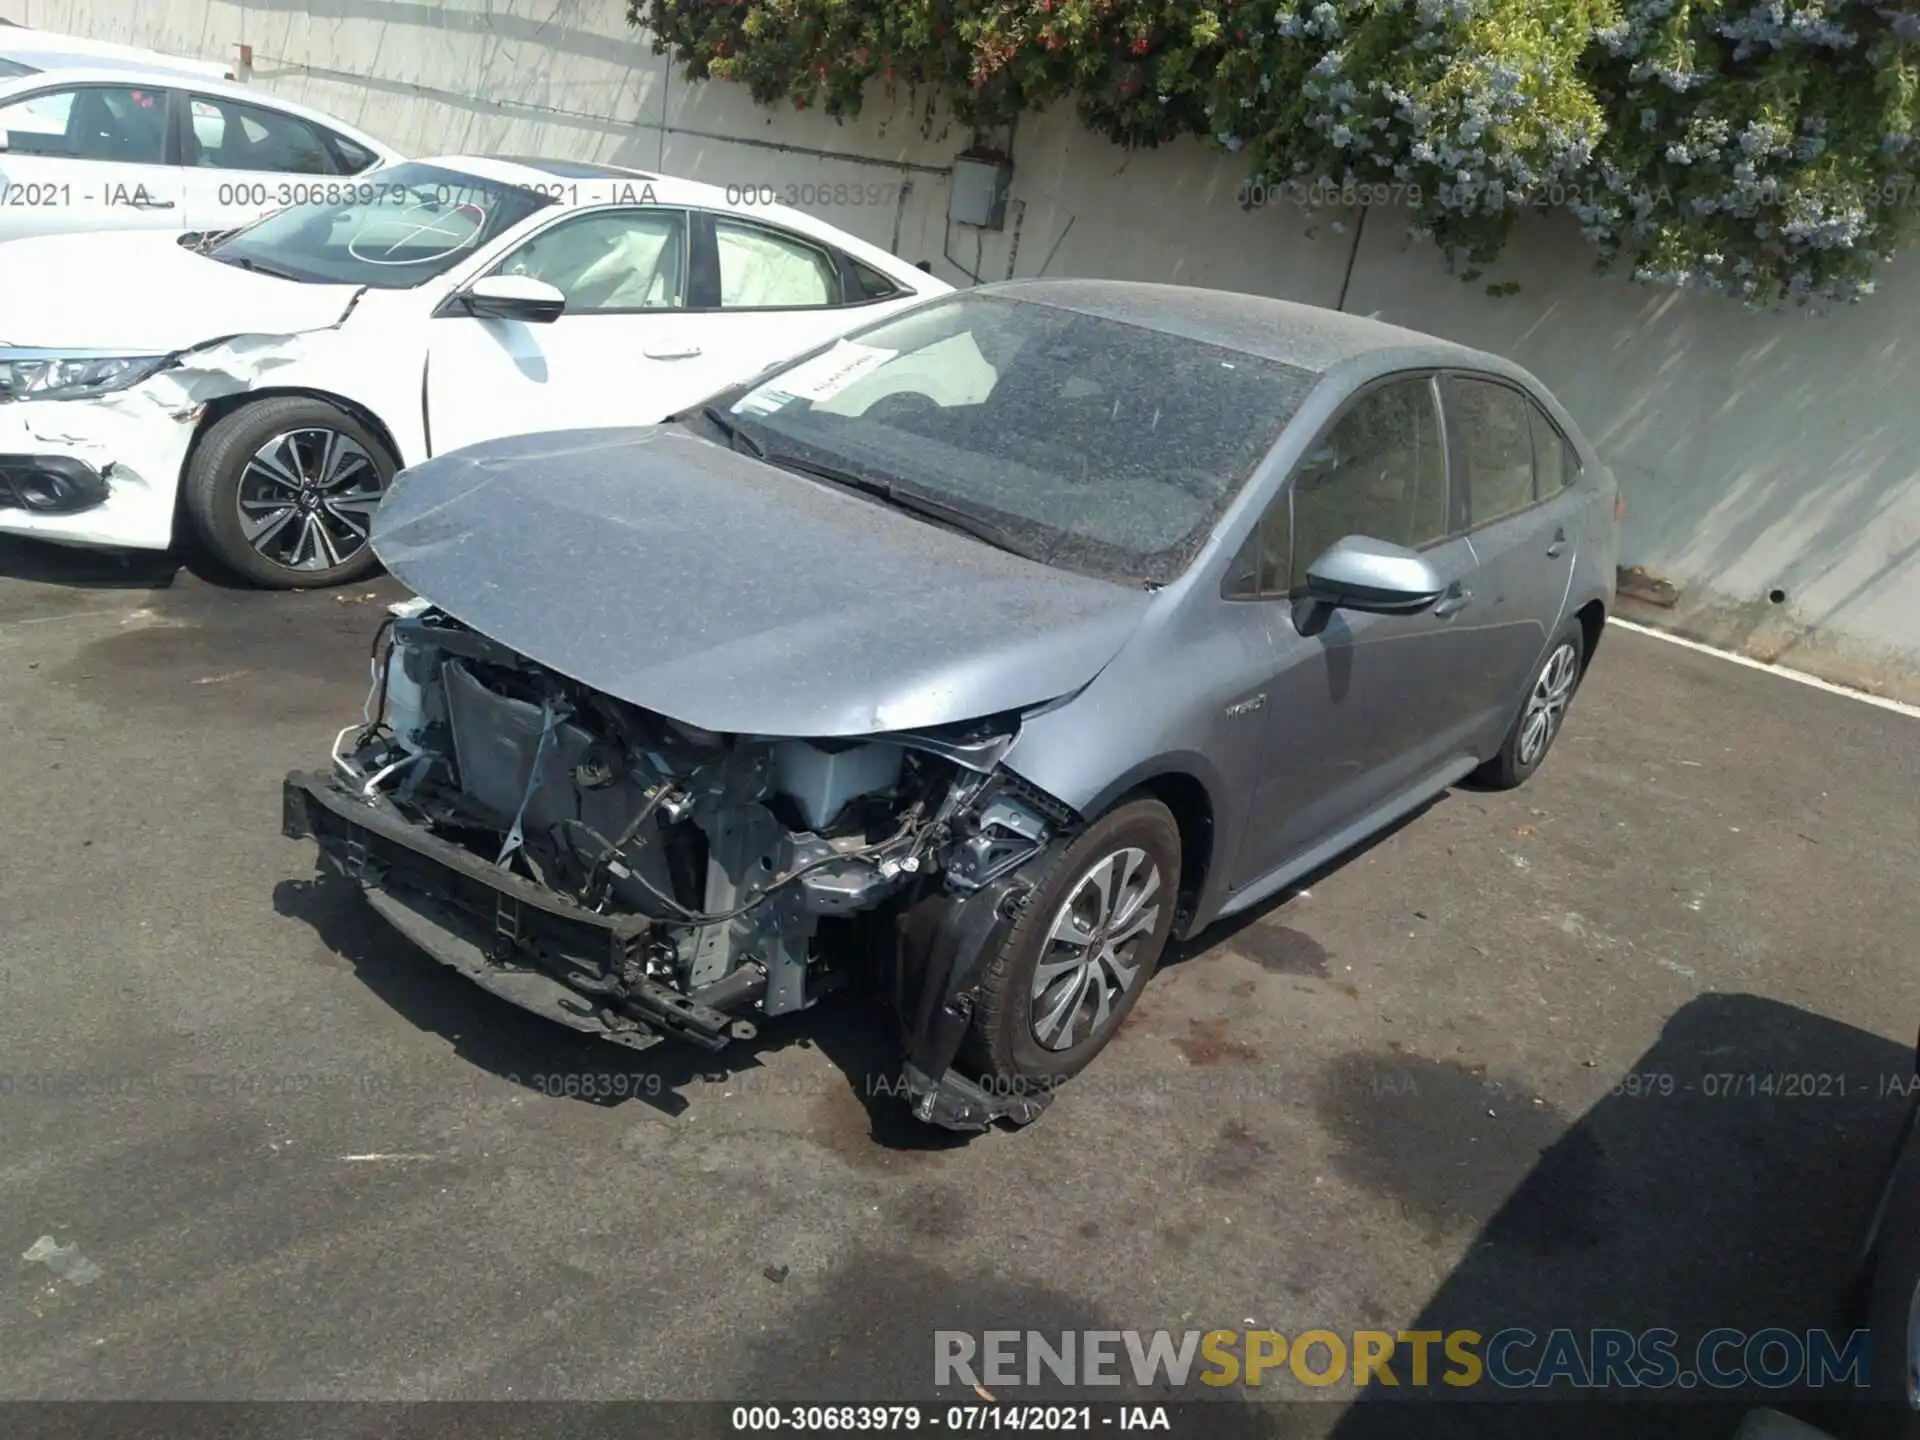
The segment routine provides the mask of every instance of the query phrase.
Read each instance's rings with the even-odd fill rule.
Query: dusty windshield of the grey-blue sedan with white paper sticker
[[[931,495],[1048,563],[1165,584],[1319,380],[1004,296],[956,296],[722,399],[783,455]]]

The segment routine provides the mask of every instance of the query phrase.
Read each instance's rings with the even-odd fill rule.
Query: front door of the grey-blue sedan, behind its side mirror
[[[1452,670],[1469,643],[1475,557],[1452,522],[1432,378],[1396,376],[1356,397],[1263,530],[1273,680],[1236,887],[1404,795],[1467,741],[1471,705]],[[1450,582],[1448,597],[1421,614],[1308,603],[1308,566],[1346,536],[1421,551]]]

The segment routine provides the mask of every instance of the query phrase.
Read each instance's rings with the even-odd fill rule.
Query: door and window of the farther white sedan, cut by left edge
[[[0,240],[180,228],[173,94],[138,83],[48,84],[0,102]]]

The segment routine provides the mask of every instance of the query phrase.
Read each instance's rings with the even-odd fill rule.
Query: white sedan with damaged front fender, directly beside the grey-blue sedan
[[[392,476],[653,424],[950,286],[801,211],[609,167],[405,161],[230,234],[0,246],[0,532],[238,576],[374,568]]]

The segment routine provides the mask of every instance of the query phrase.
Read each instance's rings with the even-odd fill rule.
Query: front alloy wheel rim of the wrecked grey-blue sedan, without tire
[[[1092,864],[1068,893],[1033,970],[1033,1039],[1069,1050],[1096,1035],[1139,977],[1160,924],[1160,866],[1137,847]]]

